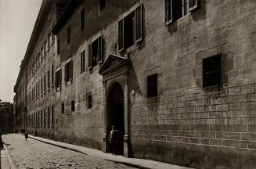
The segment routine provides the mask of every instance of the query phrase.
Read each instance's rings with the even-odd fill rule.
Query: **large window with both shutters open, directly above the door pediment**
[[[119,52],[142,41],[142,5],[118,22]]]

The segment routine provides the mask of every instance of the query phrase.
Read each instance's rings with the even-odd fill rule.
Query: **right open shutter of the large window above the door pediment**
[[[135,42],[142,41],[142,5],[135,9]]]

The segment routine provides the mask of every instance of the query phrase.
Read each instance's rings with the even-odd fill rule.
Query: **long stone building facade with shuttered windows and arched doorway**
[[[109,152],[115,125],[124,156],[254,168],[255,11],[253,0],[70,1],[54,21],[48,11],[38,34],[54,25],[56,39],[27,76],[29,131]]]

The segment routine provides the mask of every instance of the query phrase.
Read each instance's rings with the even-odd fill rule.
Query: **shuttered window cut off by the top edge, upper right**
[[[169,24],[196,9],[197,0],[165,0],[165,23]]]

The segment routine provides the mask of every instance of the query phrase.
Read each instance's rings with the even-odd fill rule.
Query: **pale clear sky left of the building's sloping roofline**
[[[20,71],[42,0],[0,0],[0,99],[13,102]]]

